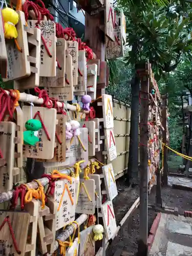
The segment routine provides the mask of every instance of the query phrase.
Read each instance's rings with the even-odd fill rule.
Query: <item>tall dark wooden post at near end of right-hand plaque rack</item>
[[[148,65],[140,70],[141,79],[141,112],[140,112],[140,214],[138,256],[147,256],[148,246],[148,97],[149,97]]]

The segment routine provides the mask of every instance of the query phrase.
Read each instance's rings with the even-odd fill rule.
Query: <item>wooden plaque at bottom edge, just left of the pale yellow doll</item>
[[[93,226],[80,232],[79,256],[95,256]]]

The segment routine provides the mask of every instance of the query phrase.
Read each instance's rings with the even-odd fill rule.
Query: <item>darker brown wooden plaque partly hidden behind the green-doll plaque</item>
[[[57,114],[58,123],[55,131],[54,157],[46,162],[65,162],[66,161],[66,115]]]

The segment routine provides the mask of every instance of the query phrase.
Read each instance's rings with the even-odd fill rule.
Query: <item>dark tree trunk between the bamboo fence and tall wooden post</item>
[[[139,90],[140,80],[137,73],[131,80],[131,127],[130,127],[130,148],[129,148],[129,161],[127,170],[127,184],[132,186],[138,183],[139,172]]]

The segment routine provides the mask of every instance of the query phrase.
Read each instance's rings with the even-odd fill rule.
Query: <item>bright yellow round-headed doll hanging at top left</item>
[[[11,8],[4,8],[2,10],[2,16],[4,20],[5,38],[12,39],[17,38],[18,33],[15,25],[18,23],[19,16],[16,11]]]

